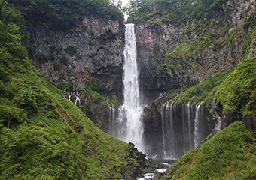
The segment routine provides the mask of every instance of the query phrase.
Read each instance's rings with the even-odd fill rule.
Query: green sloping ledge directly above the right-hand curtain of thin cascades
[[[187,89],[175,91],[171,96],[175,97],[183,92],[181,95],[178,95],[174,99],[174,102],[176,104],[187,104],[188,102],[191,102],[192,104],[197,104],[200,101],[207,102],[212,99],[212,96],[215,94],[218,87],[232,72],[233,68],[225,73],[215,74],[215,76],[213,77],[213,72],[209,71],[206,79],[203,80],[203,82],[198,83],[195,86],[191,86]]]

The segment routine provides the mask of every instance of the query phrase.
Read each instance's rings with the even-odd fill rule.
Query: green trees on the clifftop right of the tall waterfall
[[[223,0],[130,0],[127,11],[128,21],[133,23],[150,20],[154,14],[160,14],[164,23],[187,23],[192,20],[203,20],[221,10]]]

